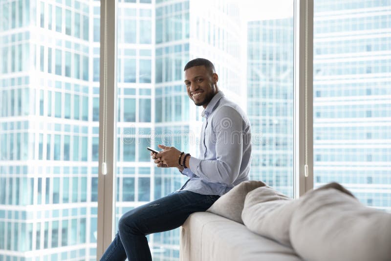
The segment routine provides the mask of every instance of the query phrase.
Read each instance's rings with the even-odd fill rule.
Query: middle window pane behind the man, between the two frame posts
[[[125,212],[186,181],[176,169],[156,168],[146,147],[172,145],[197,155],[197,141],[190,140],[199,136],[203,108],[183,84],[183,68],[195,57],[214,62],[221,90],[247,111],[250,178],[293,196],[293,0],[283,4],[281,11],[277,4],[212,1],[211,22],[201,2],[118,2],[116,226]],[[148,239],[152,259],[178,259],[179,230]]]

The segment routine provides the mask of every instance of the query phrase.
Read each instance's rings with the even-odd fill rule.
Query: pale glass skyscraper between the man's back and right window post
[[[250,179],[293,197],[293,13],[247,24]]]

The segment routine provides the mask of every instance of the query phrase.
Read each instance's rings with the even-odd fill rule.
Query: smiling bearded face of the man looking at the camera
[[[204,109],[218,92],[217,81],[217,74],[208,71],[204,65],[185,71],[187,94],[196,106],[202,106]]]

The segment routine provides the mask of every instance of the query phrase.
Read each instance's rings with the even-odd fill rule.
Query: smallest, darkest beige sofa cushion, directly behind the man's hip
[[[243,181],[227,194],[217,199],[207,211],[243,224],[241,212],[247,193],[263,186],[266,186],[266,184],[262,181]]]

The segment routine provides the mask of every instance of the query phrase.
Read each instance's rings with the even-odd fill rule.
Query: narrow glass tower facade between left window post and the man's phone
[[[153,130],[154,6],[118,0],[115,233],[124,213],[154,198],[146,150]]]

